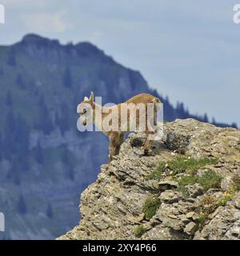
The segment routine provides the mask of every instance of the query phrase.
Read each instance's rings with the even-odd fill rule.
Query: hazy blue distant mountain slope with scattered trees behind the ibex
[[[89,42],[62,46],[34,34],[0,46],[0,90],[0,211],[6,214],[0,238],[54,238],[78,221],[79,191],[96,179],[108,154],[101,133],[76,129],[76,106],[90,90],[103,103],[158,95],[138,71]],[[160,98],[166,121],[208,121]]]

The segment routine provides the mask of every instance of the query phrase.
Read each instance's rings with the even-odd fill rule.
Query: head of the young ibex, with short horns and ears
[[[83,101],[78,104],[77,113],[83,126],[93,121],[94,114],[94,93],[91,92],[90,98],[84,97]]]

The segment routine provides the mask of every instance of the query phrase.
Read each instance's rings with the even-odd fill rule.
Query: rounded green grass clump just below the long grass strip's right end
[[[198,177],[198,183],[203,187],[203,190],[209,190],[210,188],[220,188],[222,177],[218,175],[214,170],[206,170],[204,174]]]

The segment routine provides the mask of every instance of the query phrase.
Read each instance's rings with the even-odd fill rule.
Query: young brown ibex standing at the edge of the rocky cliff
[[[86,126],[93,121],[95,126],[97,126],[98,129],[102,130],[102,132],[108,136],[110,139],[109,162],[111,162],[114,155],[119,153],[120,146],[124,141],[126,132],[139,130],[140,126],[142,127],[142,131],[146,133],[147,138],[143,149],[144,154],[148,154],[152,144],[152,140],[149,138],[149,135],[156,134],[157,132],[156,127],[154,127],[157,125],[157,103],[161,102],[153,95],[138,94],[126,102],[122,102],[118,105],[102,107],[94,102],[94,94],[91,92],[90,98],[85,97],[84,100],[78,104],[77,112],[80,115],[80,120],[83,126]],[[130,106],[134,107],[130,108]],[[139,106],[143,106],[143,118],[141,116],[141,110],[139,110]],[[153,106],[152,111],[147,110],[148,106]],[[135,118],[131,117],[130,109],[135,111]],[[123,112],[126,113],[126,118],[122,118]],[[111,126],[113,125],[113,120],[111,119],[112,116],[110,118],[110,114],[113,115],[114,113],[117,113],[118,115],[117,129],[114,129]],[[110,126],[106,127],[106,123]],[[133,126],[135,127],[134,130],[132,130]],[[122,127],[125,127],[125,129],[122,129]]]

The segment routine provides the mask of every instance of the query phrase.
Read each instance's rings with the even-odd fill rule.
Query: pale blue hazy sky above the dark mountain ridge
[[[0,0],[0,44],[90,41],[191,113],[240,125],[240,0]]]

